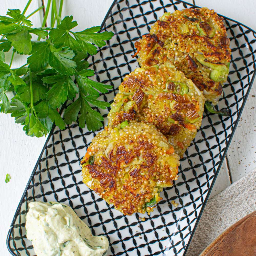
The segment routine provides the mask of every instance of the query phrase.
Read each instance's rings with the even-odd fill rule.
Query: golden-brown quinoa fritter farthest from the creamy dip
[[[231,50],[223,18],[207,8],[165,13],[135,43],[142,68],[166,59],[217,104],[227,80]]]

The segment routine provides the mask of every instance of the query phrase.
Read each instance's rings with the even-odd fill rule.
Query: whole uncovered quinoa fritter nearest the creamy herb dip
[[[130,121],[99,132],[81,166],[83,183],[131,215],[153,211],[159,192],[177,180],[179,157],[154,125]]]

